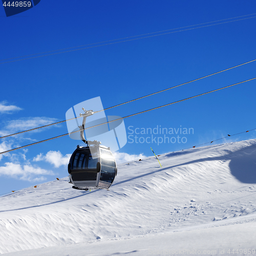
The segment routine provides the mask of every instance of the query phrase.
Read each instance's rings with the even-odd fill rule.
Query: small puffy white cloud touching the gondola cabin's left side
[[[71,154],[67,154],[63,156],[59,151],[49,151],[45,156],[40,153],[36,157],[34,157],[33,161],[46,161],[54,165],[54,167],[58,168],[61,165],[68,165]]]

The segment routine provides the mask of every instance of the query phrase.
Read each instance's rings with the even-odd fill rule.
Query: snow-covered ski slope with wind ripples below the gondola
[[[72,189],[63,178],[1,197],[0,253],[247,255],[256,249],[255,139],[159,160],[162,167],[155,157],[120,164],[110,191]]]

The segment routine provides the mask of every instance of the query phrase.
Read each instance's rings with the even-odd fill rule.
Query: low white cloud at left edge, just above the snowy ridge
[[[20,165],[16,163],[5,163],[5,166],[0,166],[0,176],[10,176],[12,178],[26,180],[26,181],[42,181],[46,178],[44,176],[34,177],[38,175],[54,175],[51,170],[42,169],[37,166],[32,166],[30,163]]]

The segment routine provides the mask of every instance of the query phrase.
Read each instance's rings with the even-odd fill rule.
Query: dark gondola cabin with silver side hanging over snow
[[[110,148],[95,142],[94,145],[77,146],[68,165],[70,183],[76,189],[109,189],[117,166]]]

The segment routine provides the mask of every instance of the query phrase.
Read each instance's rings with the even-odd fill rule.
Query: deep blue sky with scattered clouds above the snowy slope
[[[9,63],[3,62],[16,59],[3,59],[253,13],[256,13],[254,0],[41,0],[34,8],[10,17],[0,7],[0,135],[64,120],[73,105],[94,97],[100,96],[103,108],[108,108],[252,60],[256,56],[256,17]],[[246,17],[253,16],[256,15]],[[44,54],[34,56],[40,55]],[[105,114],[123,117],[253,78],[255,62],[119,106]],[[193,128],[194,133],[182,136],[186,137],[183,139],[186,143],[158,145],[154,141],[130,143],[132,140],[128,139],[116,158],[124,161],[141,158],[141,154],[151,156],[150,147],[156,154],[173,152],[256,128],[255,85],[255,80],[246,82],[124,119],[127,136],[136,128],[139,132],[160,125],[176,130]],[[55,125],[2,139],[0,149],[2,152],[67,132],[65,123]],[[216,143],[252,138],[256,138],[256,131]],[[78,143],[82,144],[66,136],[1,155],[0,194],[68,176],[67,162]]]

